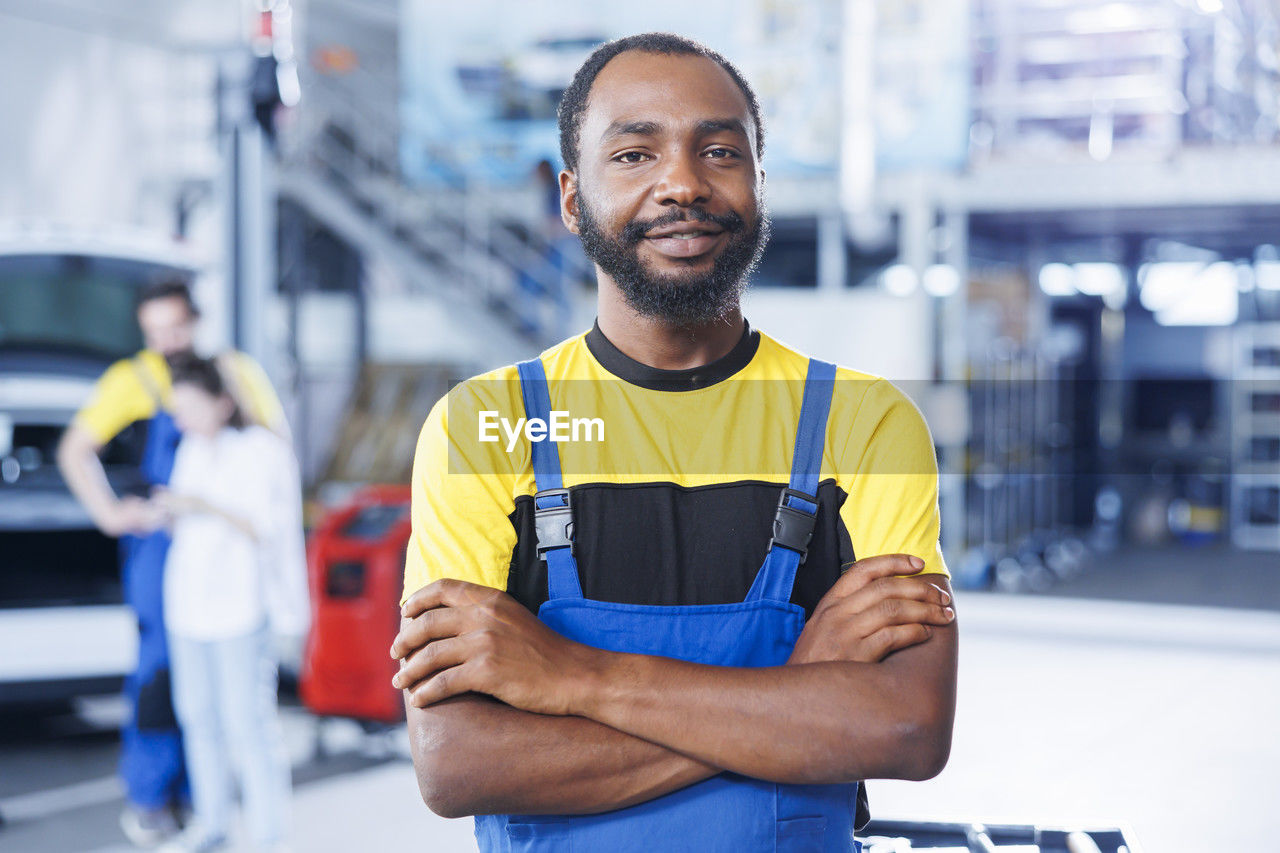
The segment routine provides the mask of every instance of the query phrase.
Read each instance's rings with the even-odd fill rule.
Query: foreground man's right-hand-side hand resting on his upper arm
[[[877,663],[932,637],[955,620],[945,575],[915,575],[919,557],[901,553],[855,562],[827,590],[805,622],[788,663]]]

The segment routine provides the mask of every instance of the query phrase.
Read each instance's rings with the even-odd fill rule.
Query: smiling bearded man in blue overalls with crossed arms
[[[745,323],[763,131],[728,61],[611,42],[559,120],[599,314],[424,425],[390,649],[424,800],[483,850],[855,850],[860,781],[950,752],[928,429]],[[604,441],[476,435],[550,410]]]

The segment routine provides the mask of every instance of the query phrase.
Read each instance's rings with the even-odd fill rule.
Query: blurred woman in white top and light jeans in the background
[[[233,767],[250,839],[283,849],[291,781],[271,634],[301,637],[308,615],[297,462],[287,441],[246,424],[212,360],[173,365],[173,411],[183,439],[154,501],[173,525],[164,607],[195,820],[166,849],[227,843]]]

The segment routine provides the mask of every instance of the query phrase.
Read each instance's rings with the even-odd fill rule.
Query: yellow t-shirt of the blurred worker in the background
[[[253,423],[273,430],[284,428],[284,409],[266,373],[243,352],[224,356],[232,366],[236,397]],[[76,424],[100,444],[106,444],[125,426],[155,416],[156,406],[169,405],[169,365],[159,352],[143,350],[120,359],[99,378],[88,402],[76,414]]]

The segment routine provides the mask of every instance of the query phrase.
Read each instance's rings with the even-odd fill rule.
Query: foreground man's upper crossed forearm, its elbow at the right
[[[955,633],[881,663],[736,669],[600,653],[575,710],[758,779],[928,779],[950,752]]]

